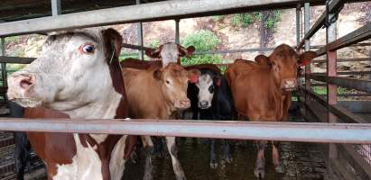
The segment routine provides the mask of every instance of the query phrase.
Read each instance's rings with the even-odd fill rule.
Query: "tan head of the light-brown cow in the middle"
[[[172,103],[176,109],[190,107],[190,99],[187,97],[188,82],[194,83],[199,74],[197,69],[187,71],[175,63],[169,63],[166,67],[153,71],[154,78],[161,81],[165,101]]]

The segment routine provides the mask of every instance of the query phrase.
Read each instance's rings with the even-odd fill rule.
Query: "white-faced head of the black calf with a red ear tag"
[[[218,86],[220,85],[221,77],[211,73],[210,71],[202,72],[199,76],[199,81],[195,84],[199,88],[199,108],[209,109],[212,99]]]

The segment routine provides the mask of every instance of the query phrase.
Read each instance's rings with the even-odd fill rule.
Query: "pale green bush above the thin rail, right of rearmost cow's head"
[[[218,36],[209,30],[200,30],[188,34],[184,40],[182,40],[182,45],[184,47],[194,46],[196,50],[207,51],[216,49],[220,43]]]

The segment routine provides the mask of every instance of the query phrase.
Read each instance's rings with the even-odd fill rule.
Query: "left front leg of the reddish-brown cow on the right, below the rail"
[[[257,147],[257,157],[255,162],[254,168],[254,175],[257,178],[264,178],[265,176],[265,157],[264,157],[264,150],[265,150],[266,141],[259,140],[256,142]]]

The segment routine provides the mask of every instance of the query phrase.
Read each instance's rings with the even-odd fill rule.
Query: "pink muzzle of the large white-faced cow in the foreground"
[[[8,78],[8,99],[24,107],[35,107],[41,104],[32,97],[36,76],[27,72],[15,72]]]

